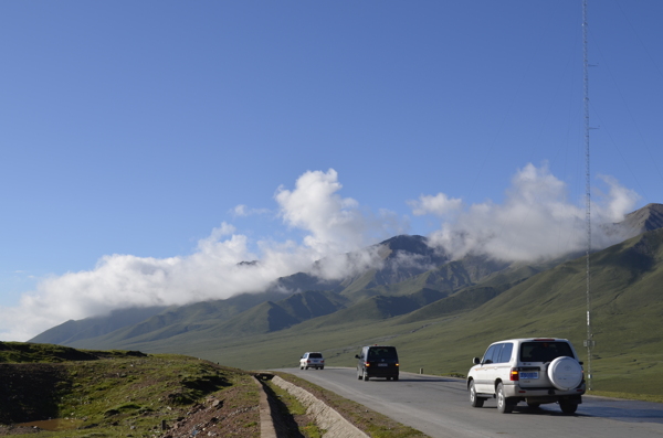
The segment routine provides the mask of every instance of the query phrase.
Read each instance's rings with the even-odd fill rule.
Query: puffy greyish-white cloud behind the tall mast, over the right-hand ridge
[[[608,193],[592,202],[592,242],[606,247],[620,236],[607,236],[598,224],[619,222],[638,195],[610,178]],[[586,209],[567,200],[566,184],[544,164],[527,164],[512,179],[503,204],[471,205],[431,235],[431,242],[454,258],[485,254],[505,260],[537,260],[580,252],[586,247]]]

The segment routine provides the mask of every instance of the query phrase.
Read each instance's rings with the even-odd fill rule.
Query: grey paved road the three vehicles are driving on
[[[499,414],[494,400],[483,408],[471,407],[465,382],[457,378],[401,372],[399,382],[364,382],[346,367],[277,371],[306,378],[434,438],[663,437],[663,404],[583,397],[570,416],[556,404],[529,409],[524,403],[513,414]]]

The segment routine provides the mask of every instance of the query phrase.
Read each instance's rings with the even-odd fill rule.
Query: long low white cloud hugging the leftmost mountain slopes
[[[110,255],[92,270],[67,273],[42,280],[36,290],[23,295],[19,308],[0,309],[2,339],[27,340],[69,319],[103,314],[130,306],[183,305],[256,291],[282,275],[286,264],[261,263],[240,266],[256,256],[246,248],[246,237],[231,234],[228,224],[214,228],[186,257],[151,258]],[[305,265],[301,265],[304,267]],[[9,329],[9,330],[8,330]]]

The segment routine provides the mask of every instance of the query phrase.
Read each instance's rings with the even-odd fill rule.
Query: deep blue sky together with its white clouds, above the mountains
[[[589,1],[598,221],[663,202],[661,17]],[[273,259],[269,281],[583,217],[581,22],[580,0],[0,3],[0,338],[241,291],[214,263]]]

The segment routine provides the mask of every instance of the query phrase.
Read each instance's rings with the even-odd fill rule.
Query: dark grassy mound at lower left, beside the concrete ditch
[[[181,355],[4,342],[0,394],[0,425],[12,425],[0,435],[33,432],[21,424],[57,418],[39,424],[63,428],[49,437],[147,437],[193,418],[209,396],[218,400],[214,430],[260,432],[259,392],[249,373]]]

